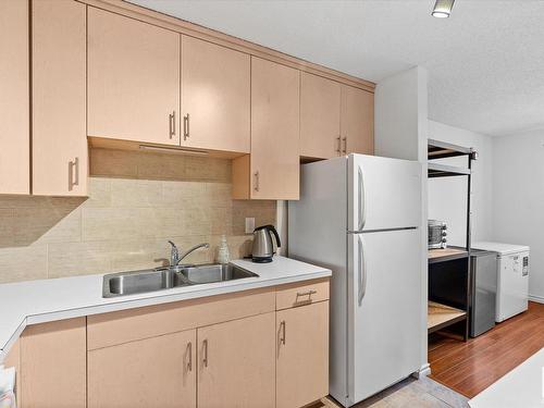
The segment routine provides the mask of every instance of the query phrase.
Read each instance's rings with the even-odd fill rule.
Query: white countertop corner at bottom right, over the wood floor
[[[544,348],[469,400],[471,408],[544,407]]]

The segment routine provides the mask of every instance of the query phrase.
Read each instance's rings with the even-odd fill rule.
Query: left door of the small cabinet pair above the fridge
[[[341,84],[302,72],[300,84],[300,156],[339,156]]]

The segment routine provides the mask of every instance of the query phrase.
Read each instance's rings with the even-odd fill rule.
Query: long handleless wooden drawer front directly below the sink
[[[148,306],[87,318],[87,349],[274,311],[273,288]]]

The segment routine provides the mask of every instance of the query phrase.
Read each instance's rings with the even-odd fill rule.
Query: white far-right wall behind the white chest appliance
[[[494,238],[531,247],[529,294],[544,301],[544,129],[493,140]]]

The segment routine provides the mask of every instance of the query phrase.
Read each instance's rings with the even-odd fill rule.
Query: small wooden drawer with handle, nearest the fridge
[[[280,286],[276,290],[276,310],[310,305],[329,299],[329,279]]]

